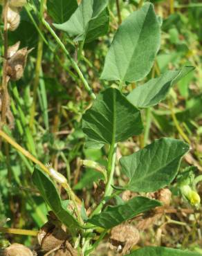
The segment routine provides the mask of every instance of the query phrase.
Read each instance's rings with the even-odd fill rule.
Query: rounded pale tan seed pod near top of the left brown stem
[[[7,26],[8,30],[14,31],[17,29],[20,22],[19,10],[17,8],[8,7],[7,22],[8,22],[8,26]]]

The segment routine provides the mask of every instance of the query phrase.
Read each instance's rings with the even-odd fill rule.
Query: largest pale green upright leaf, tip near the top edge
[[[107,53],[101,79],[135,82],[151,70],[160,48],[160,24],[151,3],[122,22]]]

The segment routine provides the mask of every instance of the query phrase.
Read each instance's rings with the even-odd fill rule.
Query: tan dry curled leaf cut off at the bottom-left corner
[[[33,256],[33,253],[22,244],[12,244],[5,249],[4,256]]]

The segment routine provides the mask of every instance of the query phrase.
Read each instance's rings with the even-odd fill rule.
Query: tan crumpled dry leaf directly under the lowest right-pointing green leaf
[[[120,255],[125,255],[135,246],[140,239],[139,231],[134,226],[123,223],[111,229],[111,248],[122,250]]]

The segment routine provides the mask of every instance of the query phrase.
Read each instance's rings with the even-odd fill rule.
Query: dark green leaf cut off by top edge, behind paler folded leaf
[[[77,0],[48,0],[48,15],[57,23],[68,21],[77,9]]]

